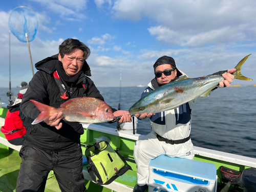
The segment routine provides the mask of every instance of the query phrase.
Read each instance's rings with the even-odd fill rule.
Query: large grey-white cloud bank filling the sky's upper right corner
[[[154,20],[148,31],[161,42],[201,47],[255,40],[255,7],[253,0],[117,0],[112,11],[117,18]]]

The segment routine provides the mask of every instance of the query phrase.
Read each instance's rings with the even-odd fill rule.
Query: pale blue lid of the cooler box
[[[207,180],[215,180],[217,174],[215,164],[166,155],[151,160],[150,167]]]

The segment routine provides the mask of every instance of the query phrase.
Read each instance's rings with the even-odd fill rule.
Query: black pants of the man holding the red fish
[[[43,192],[48,174],[53,170],[62,192],[84,192],[82,151],[80,147],[66,151],[45,151],[23,146],[16,192]]]

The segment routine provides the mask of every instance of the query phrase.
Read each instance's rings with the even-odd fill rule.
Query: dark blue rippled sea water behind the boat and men
[[[128,111],[145,88],[98,87],[105,102]],[[11,89],[14,96],[19,88]],[[0,88],[2,102],[8,103],[8,88]],[[120,99],[121,98],[121,99]],[[256,158],[256,87],[218,88],[193,106],[191,139],[195,146]],[[101,123],[116,129],[117,123]],[[137,133],[151,132],[149,120],[138,120]]]

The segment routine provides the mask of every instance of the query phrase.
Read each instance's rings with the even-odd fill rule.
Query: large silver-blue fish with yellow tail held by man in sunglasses
[[[253,80],[241,74],[241,67],[249,56],[243,58],[235,67],[236,72],[233,73],[235,79]],[[130,114],[148,114],[175,109],[199,96],[207,96],[212,89],[218,86],[222,79],[224,79],[222,75],[209,75],[191,79],[186,76],[180,77],[142,97],[129,109],[129,112]]]

